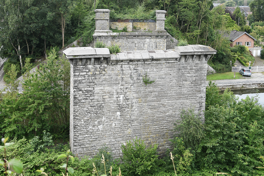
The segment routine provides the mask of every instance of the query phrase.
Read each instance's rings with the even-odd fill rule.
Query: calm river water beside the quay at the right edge
[[[239,100],[245,99],[247,96],[256,97],[258,96],[258,102],[264,105],[264,88],[258,89],[240,89],[240,90],[232,90],[236,96],[239,97]]]

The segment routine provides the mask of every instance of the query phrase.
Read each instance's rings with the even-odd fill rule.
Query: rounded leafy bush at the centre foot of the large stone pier
[[[162,160],[158,159],[157,155],[158,144],[153,147],[147,147],[141,139],[127,141],[126,145],[121,146],[124,162],[121,167],[125,168],[128,175],[147,175],[158,171]]]

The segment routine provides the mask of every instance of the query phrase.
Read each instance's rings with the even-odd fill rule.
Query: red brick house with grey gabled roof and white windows
[[[256,40],[254,37],[249,35],[247,32],[244,31],[236,31],[233,30],[231,33],[225,34],[225,37],[227,37],[230,42],[230,47],[237,46],[237,45],[245,45],[248,48],[254,47],[254,41]]]

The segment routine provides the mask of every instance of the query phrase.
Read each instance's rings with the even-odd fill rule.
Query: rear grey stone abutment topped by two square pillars
[[[127,26],[129,31],[136,31],[121,33],[114,33],[109,30],[109,13],[109,9],[95,10],[96,30],[93,34],[93,46],[99,40],[106,44],[106,46],[118,45],[121,51],[166,50],[174,49],[174,46],[178,42],[164,29],[166,20],[166,11],[164,10],[156,10],[156,23],[154,20],[111,20],[113,28],[123,29]],[[129,26],[129,23],[133,23],[133,27]]]

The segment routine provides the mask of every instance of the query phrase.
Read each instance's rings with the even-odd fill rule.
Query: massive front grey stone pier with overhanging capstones
[[[116,55],[91,47],[63,52],[71,64],[70,146],[79,157],[95,156],[103,145],[118,157],[121,145],[135,137],[158,144],[163,155],[180,110],[194,108],[203,116],[207,60],[216,53],[208,46]],[[155,82],[145,85],[145,73]]]

